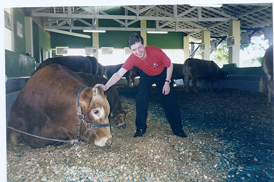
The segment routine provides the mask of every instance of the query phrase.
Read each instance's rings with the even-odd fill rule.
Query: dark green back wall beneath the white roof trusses
[[[120,13],[120,9],[116,9],[116,11]],[[98,25],[99,27],[119,27],[121,24],[114,20],[102,19],[98,21]],[[85,25],[80,22],[75,24],[75,26]],[[139,28],[140,21],[135,22],[129,27]],[[155,21],[147,21],[147,27],[155,28]],[[73,32],[92,36],[92,33],[82,32],[82,30],[73,30]],[[106,31],[105,33],[99,33],[99,47],[127,47],[128,36],[133,33],[140,34],[140,31]],[[168,34],[147,34],[147,46],[156,46],[162,49],[182,49],[184,36],[186,36],[186,34],[183,32],[169,32]],[[92,46],[92,38],[87,39],[51,32],[51,48],[58,46],[68,46],[70,48],[90,47]]]

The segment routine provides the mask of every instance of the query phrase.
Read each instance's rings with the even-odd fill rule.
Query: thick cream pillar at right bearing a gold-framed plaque
[[[235,35],[235,46],[228,47],[228,64],[236,63],[240,66],[240,21],[232,20],[229,22],[228,36]]]

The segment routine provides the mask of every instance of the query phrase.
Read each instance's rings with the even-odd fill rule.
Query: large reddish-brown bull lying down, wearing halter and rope
[[[77,99],[83,85],[85,83],[79,76],[62,65],[51,64],[40,69],[31,76],[15,100],[8,126],[39,137],[57,140],[79,137],[86,143],[108,146],[112,142],[109,126],[86,129],[92,124],[109,124],[108,101],[100,87],[84,88]],[[87,124],[79,122],[77,102],[84,116],[84,119],[81,116],[79,118]],[[13,144],[18,144],[22,138],[33,148],[62,143],[31,137],[14,130],[10,131],[9,136]]]

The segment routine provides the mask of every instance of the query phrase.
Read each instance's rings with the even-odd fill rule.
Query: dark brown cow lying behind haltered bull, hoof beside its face
[[[87,73],[76,73],[86,85],[93,87],[97,83],[106,84],[108,80],[99,75],[90,75]],[[122,104],[120,100],[120,96],[117,92],[116,87],[112,86],[107,91],[104,92],[105,96],[107,96],[107,100],[110,106],[110,112],[114,116],[115,125],[120,129],[126,127],[125,120],[125,111],[122,110]]]

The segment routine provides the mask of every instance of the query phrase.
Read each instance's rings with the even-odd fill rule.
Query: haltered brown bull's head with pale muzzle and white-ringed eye
[[[86,123],[90,124],[107,124],[109,123],[108,115],[110,107],[104,91],[100,87],[87,87],[79,97],[82,108],[82,114]],[[87,125],[88,127],[90,125]],[[81,123],[80,136],[86,132],[86,125]],[[87,131],[83,140],[87,143],[94,142],[97,146],[109,146],[112,142],[110,127],[90,129]]]

